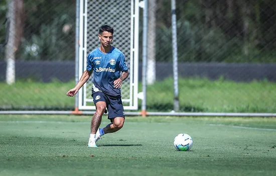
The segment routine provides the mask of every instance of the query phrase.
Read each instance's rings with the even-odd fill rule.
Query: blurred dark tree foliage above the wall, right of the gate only
[[[273,0],[177,2],[180,61],[275,62],[276,3]],[[172,56],[170,1],[157,13],[157,59]],[[161,48],[161,49],[160,49]]]

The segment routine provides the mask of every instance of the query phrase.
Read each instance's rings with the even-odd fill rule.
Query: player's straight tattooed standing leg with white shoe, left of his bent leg
[[[106,110],[106,98],[102,92],[96,92],[93,95],[94,104],[96,106],[96,112],[91,119],[90,137],[88,141],[89,147],[96,146],[96,132],[101,124],[102,115]]]

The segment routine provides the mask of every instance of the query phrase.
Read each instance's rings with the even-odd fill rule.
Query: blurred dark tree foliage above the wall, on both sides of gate
[[[179,61],[275,62],[274,0],[177,0],[176,3]],[[157,34],[156,60],[171,61],[171,1],[157,1],[156,6],[157,28],[151,31]],[[24,0],[23,8],[24,35],[17,59],[74,60],[76,1]],[[6,1],[1,1],[1,24],[6,12]],[[142,32],[142,23],[140,28]],[[0,42],[4,40],[5,26],[0,25]]]

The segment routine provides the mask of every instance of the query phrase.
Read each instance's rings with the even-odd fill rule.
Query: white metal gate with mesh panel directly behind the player
[[[87,55],[99,47],[98,30],[102,25],[114,28],[112,46],[125,55],[129,76],[122,82],[121,96],[125,110],[138,109],[139,75],[139,0],[92,1],[79,3],[78,77],[86,69]],[[78,109],[95,110],[91,97],[92,76],[79,90]]]

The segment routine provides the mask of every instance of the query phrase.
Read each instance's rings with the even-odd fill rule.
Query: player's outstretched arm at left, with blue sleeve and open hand
[[[86,70],[82,73],[81,78],[77,83],[77,85],[66,93],[67,96],[73,97],[74,95],[76,95],[77,92],[80,90],[80,88],[89,79],[90,75],[92,74],[92,66],[93,66],[93,64],[90,61],[90,58],[93,58],[93,57],[91,56],[91,54],[88,54]]]

